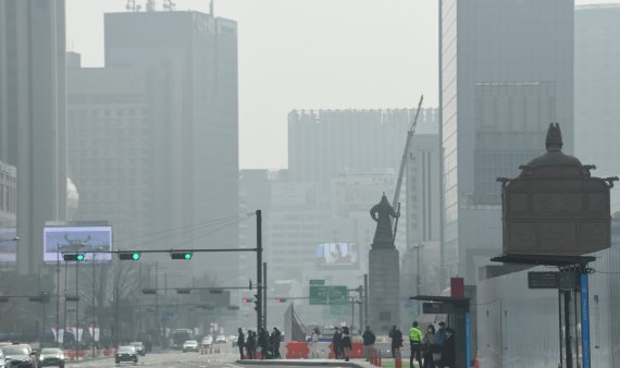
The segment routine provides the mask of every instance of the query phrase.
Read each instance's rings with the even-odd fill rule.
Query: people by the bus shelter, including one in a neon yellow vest
[[[454,368],[456,366],[455,331],[446,328],[445,322],[439,322],[438,326],[439,329],[435,331],[435,326],[431,323],[426,327],[426,332],[422,332],[418,321],[413,321],[408,333],[411,348],[410,368],[413,368],[413,360],[418,360],[420,368]],[[394,356],[394,351],[402,347],[402,333],[396,324],[392,327],[389,338]]]

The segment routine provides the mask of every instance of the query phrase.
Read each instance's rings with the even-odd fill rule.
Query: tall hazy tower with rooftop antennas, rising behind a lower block
[[[104,25],[106,68],[163,73],[171,91],[162,96],[171,103],[168,122],[152,132],[160,172],[150,183],[158,198],[152,225],[194,226],[169,238],[169,248],[238,246],[237,226],[206,228],[238,214],[236,23],[195,11],[147,11],[106,14]],[[196,258],[195,272],[236,279],[233,254]]]

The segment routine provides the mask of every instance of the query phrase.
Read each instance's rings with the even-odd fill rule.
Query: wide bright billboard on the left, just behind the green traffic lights
[[[63,253],[85,254],[84,261],[112,260],[112,226],[46,226],[44,229],[44,261],[62,260]]]

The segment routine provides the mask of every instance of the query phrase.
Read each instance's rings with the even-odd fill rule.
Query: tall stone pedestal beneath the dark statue
[[[373,248],[369,255],[370,327],[379,333],[400,326],[398,249]]]

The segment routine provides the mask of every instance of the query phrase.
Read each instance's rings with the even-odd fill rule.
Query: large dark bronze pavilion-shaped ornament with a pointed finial
[[[499,177],[505,254],[575,256],[610,246],[609,189],[618,177],[593,177],[594,165],[565,155],[558,123],[549,124],[547,151]]]

